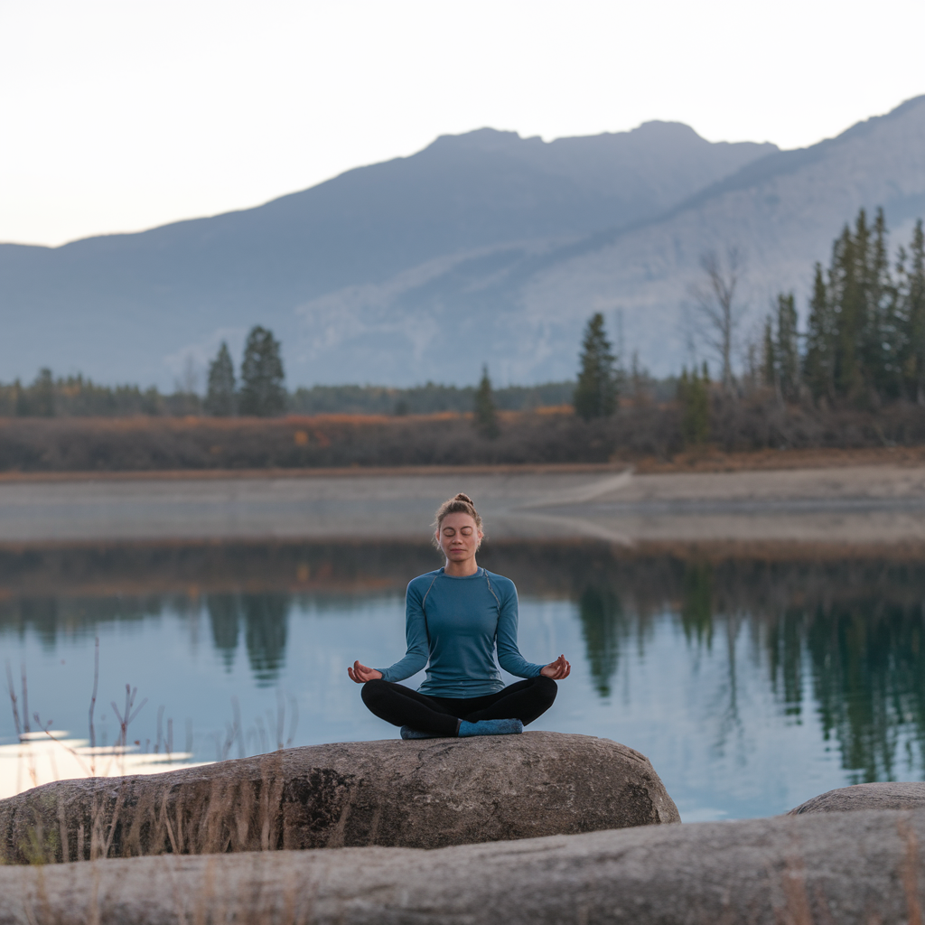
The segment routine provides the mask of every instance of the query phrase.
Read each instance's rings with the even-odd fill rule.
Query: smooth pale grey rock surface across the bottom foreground
[[[0,868],[0,925],[908,925],[925,811]]]

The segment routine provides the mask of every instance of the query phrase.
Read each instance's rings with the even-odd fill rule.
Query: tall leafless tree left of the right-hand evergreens
[[[700,258],[700,266],[707,275],[705,283],[692,285],[688,290],[697,302],[697,314],[706,322],[700,335],[720,360],[722,388],[729,392],[733,381],[733,344],[735,329],[742,320],[745,306],[735,302],[735,290],[742,278],[745,261],[738,248],[726,251],[723,261],[716,251],[708,251]]]

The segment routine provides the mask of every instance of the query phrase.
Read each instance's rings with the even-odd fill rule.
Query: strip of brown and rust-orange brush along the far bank
[[[629,405],[586,422],[567,407],[499,414],[500,436],[468,413],[280,418],[0,419],[0,473],[150,473],[536,467],[632,462],[640,472],[726,471],[925,460],[925,409],[862,411],[712,398],[709,445],[685,449],[673,404]]]

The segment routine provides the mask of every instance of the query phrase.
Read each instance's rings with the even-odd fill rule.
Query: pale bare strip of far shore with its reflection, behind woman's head
[[[925,542],[925,460],[840,461],[660,473],[611,463],[23,476],[0,480],[0,544],[425,540],[438,505],[461,490],[496,540]]]

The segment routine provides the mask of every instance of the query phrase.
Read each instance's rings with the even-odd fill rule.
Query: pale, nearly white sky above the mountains
[[[925,0],[0,0],[0,240],[241,208],[482,126],[799,147],[925,93]]]

